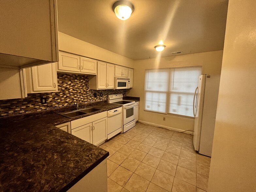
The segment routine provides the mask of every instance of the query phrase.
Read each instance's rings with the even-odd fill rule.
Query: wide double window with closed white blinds
[[[146,111],[193,116],[193,97],[202,67],[152,69],[145,72]]]

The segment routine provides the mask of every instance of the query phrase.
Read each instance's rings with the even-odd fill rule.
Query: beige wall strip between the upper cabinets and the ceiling
[[[98,60],[102,60],[125,67],[134,68],[132,59],[120,56],[106,49],[97,47],[85,41],[76,39],[72,36],[58,32],[59,50],[67,51],[81,56],[86,56]]]

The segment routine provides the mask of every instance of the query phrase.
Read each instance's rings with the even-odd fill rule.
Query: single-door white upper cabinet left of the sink
[[[27,93],[58,91],[55,63],[26,68],[25,78]]]

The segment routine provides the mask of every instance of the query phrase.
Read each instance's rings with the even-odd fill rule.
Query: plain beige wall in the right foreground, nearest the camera
[[[229,0],[208,191],[256,191],[256,2]]]

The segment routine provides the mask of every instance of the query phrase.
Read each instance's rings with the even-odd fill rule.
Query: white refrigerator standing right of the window
[[[220,75],[200,75],[195,90],[193,143],[200,154],[212,155]]]

